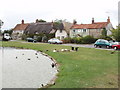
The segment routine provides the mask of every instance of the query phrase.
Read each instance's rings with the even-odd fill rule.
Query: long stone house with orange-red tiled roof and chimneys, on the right
[[[77,36],[93,36],[93,37],[100,37],[102,35],[102,30],[107,30],[107,35],[111,35],[111,30],[113,26],[110,22],[110,18],[108,17],[107,22],[94,22],[94,18],[92,18],[91,24],[74,24],[70,30],[70,37],[77,37]]]

